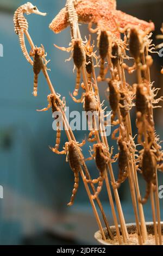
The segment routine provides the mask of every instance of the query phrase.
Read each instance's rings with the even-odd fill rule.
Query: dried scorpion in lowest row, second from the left
[[[98,183],[97,191],[92,196],[92,199],[96,199],[102,190],[103,180],[105,179],[106,164],[108,164],[108,162],[111,161],[112,149],[111,149],[111,153],[109,153],[109,150],[106,148],[106,146],[103,143],[98,143],[93,145],[93,152],[94,152],[93,155],[86,160],[92,160],[95,158],[96,166],[97,166],[97,169],[99,170],[99,177],[94,180],[86,179],[86,181],[88,183],[93,183],[93,184]]]

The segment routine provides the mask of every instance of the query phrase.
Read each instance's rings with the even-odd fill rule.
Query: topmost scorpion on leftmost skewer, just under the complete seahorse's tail
[[[34,92],[33,95],[37,96],[37,87],[38,87],[38,76],[43,70],[44,67],[48,64],[50,60],[46,60],[47,54],[45,54],[45,49],[43,45],[41,47],[34,47],[30,51],[29,55],[34,58],[33,62],[33,71],[34,71]],[[45,64],[43,63],[45,62]]]

